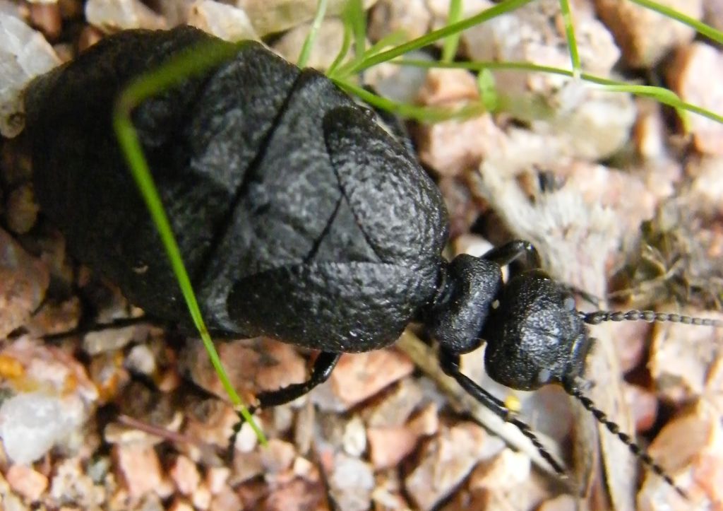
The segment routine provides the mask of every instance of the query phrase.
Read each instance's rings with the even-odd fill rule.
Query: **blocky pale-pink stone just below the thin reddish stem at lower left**
[[[157,491],[163,485],[161,462],[153,447],[144,444],[116,444],[113,457],[118,478],[132,499]]]

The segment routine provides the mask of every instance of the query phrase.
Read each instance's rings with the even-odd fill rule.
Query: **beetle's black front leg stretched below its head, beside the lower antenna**
[[[536,447],[537,452],[539,452],[544,460],[549,463],[555,472],[558,474],[565,474],[565,469],[562,468],[560,463],[557,463],[557,460],[555,460],[549,451],[545,449],[542,443],[540,443],[537,436],[532,432],[530,426],[516,418],[502,401],[498,400],[495,396],[484,390],[482,387],[479,387],[478,384],[474,383],[474,381],[461,373],[458,354],[450,352],[449,350],[440,350],[440,366],[442,367],[442,371],[445,371],[448,376],[452,376],[468,394],[484,405],[484,407],[487,407],[489,410],[496,413],[500,418],[502,418],[502,421],[511,423],[513,426],[518,428],[521,433],[526,436],[530,442],[532,442],[532,444]]]

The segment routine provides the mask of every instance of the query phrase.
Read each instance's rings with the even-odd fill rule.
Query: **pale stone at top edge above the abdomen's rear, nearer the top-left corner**
[[[166,20],[140,0],[89,0],[85,17],[106,33],[130,28],[166,28]]]

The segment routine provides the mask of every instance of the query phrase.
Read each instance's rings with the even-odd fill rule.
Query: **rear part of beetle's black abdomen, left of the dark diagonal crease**
[[[111,129],[133,77],[210,36],[133,30],[106,38],[27,90],[35,189],[71,253],[169,321],[187,317],[160,237]],[[134,124],[184,263],[194,276],[299,69],[249,43],[231,62],[152,98]],[[273,80],[269,80],[269,76]]]

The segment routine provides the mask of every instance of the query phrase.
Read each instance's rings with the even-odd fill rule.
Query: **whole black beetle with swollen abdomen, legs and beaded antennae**
[[[148,316],[189,332],[111,110],[132,77],[208,39],[193,28],[119,33],[35,80],[26,99],[35,190],[69,250]],[[260,394],[262,407],[309,392],[342,352],[391,345],[416,321],[439,342],[442,368],[558,471],[529,427],[460,372],[460,355],[482,339],[493,379],[514,389],[562,385],[672,484],[579,389],[592,345],[586,323],[715,322],[579,313],[528,242],[445,261],[445,206],[414,157],[326,77],[260,44],[145,101],[133,117],[210,331],[321,350],[309,381]]]

